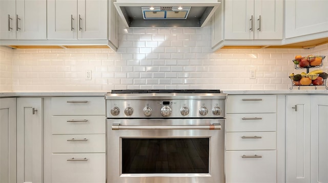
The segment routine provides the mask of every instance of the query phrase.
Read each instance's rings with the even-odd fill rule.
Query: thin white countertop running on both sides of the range
[[[0,97],[69,97],[69,96],[105,96],[106,91],[19,91],[2,92]],[[328,89],[293,89],[293,90],[221,90],[221,93],[228,95],[261,95],[261,94],[325,94]]]

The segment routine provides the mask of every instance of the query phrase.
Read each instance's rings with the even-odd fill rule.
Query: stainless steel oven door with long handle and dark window
[[[107,183],[224,182],[224,119],[107,119]]]

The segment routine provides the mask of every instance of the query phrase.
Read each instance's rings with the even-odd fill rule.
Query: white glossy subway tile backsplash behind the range
[[[111,89],[289,89],[295,55],[312,49],[220,49],[210,27],[120,29],[119,48],[0,48],[0,91]],[[327,58],[321,70],[327,71]],[[250,69],[256,78],[249,78]],[[92,80],[85,80],[92,70]],[[305,70],[304,70],[305,71]],[[310,88],[311,89],[311,88]]]

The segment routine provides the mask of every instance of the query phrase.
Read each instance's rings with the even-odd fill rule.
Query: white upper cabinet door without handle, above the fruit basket
[[[328,31],[328,1],[285,1],[285,38]]]

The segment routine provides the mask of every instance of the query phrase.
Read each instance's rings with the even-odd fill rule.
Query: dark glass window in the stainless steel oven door
[[[122,139],[122,173],[209,173],[209,138]]]

